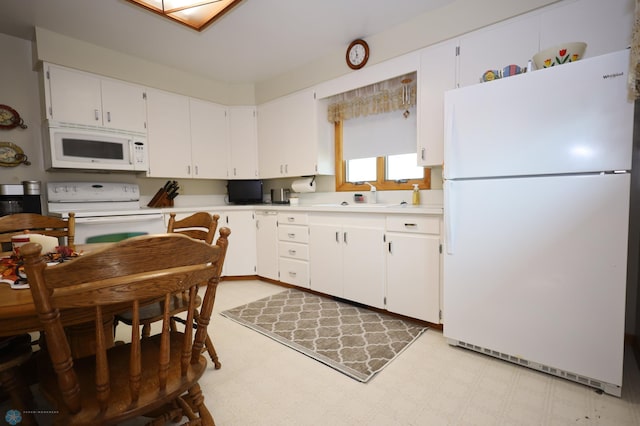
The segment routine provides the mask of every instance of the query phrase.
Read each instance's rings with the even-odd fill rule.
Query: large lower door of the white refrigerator
[[[620,386],[629,182],[447,181],[444,335]]]

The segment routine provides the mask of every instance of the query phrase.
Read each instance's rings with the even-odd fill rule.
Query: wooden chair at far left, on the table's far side
[[[75,213],[69,213],[69,219],[37,213],[16,213],[0,217],[0,243],[11,243],[11,237],[24,234],[24,231],[57,237],[60,245],[67,245],[75,250]]]

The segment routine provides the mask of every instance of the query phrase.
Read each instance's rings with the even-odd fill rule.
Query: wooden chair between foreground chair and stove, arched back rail
[[[217,214],[212,216],[206,212],[197,212],[183,219],[176,220],[176,214],[170,213],[167,232],[183,234],[190,238],[202,240],[207,244],[211,244],[218,228],[219,219],[220,216]],[[154,303],[142,308],[140,313],[140,323],[142,324],[143,337],[149,336],[151,332],[151,324],[162,320],[163,303],[164,302],[160,301],[158,303]],[[201,299],[199,296],[196,296],[196,307],[199,307],[200,304]],[[188,310],[188,307],[189,297],[186,293],[178,293],[171,298],[169,312],[171,315],[170,325],[172,330],[176,330],[176,322],[180,322],[185,326],[187,324],[191,324],[176,316],[182,312],[186,312]],[[195,312],[194,319],[197,322],[197,310]],[[117,324],[118,322],[123,322],[125,324],[131,325],[133,322],[131,312],[125,312],[123,314],[116,315],[115,323]],[[211,341],[211,337],[209,337],[208,333],[206,334],[205,348],[209,353],[209,356],[211,357],[211,361],[213,361],[215,369],[218,370],[220,367],[222,367],[222,364],[218,359],[218,354],[216,353],[216,349],[213,346],[213,342]]]

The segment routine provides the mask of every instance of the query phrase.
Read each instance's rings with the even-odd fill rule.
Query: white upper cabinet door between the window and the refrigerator
[[[418,165],[442,166],[444,153],[444,92],[456,86],[457,41],[420,54],[418,84]]]

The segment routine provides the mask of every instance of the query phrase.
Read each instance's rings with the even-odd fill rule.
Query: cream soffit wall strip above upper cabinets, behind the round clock
[[[456,0],[389,31],[367,37],[371,47],[369,63],[382,62],[557,1]],[[44,28],[36,28],[36,43],[39,60],[225,105],[260,104],[350,72],[344,61],[348,43],[343,49],[255,87],[253,84],[229,85],[207,80]]]

